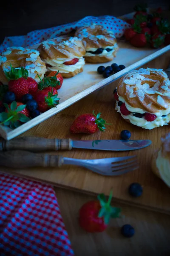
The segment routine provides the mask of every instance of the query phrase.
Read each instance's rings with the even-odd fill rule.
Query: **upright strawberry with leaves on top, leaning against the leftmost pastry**
[[[25,70],[23,67],[16,69],[11,66],[9,72],[5,71],[6,78],[8,79],[8,90],[13,92],[16,96],[16,99],[19,100],[21,97],[28,93],[28,70]]]

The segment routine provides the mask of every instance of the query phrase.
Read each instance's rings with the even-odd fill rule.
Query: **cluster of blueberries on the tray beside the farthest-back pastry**
[[[125,68],[124,65],[119,65],[116,63],[111,64],[111,66],[104,67],[104,66],[99,66],[97,69],[97,72],[99,74],[102,74],[104,78],[107,78],[111,76],[112,74],[115,74]]]

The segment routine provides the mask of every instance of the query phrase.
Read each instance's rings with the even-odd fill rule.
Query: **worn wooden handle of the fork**
[[[0,166],[14,169],[30,167],[60,167],[63,157],[47,153],[32,153],[29,151],[15,150],[0,152]]]

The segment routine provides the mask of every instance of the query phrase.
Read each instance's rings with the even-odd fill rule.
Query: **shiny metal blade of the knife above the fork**
[[[151,140],[72,140],[72,148],[127,151],[145,148]]]

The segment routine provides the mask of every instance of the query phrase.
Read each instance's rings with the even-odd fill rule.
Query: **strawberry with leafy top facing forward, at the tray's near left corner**
[[[23,103],[14,101],[10,105],[7,105],[6,103],[3,105],[5,106],[6,111],[0,113],[1,125],[9,126],[11,129],[14,129],[30,120],[28,118],[29,111]]]

